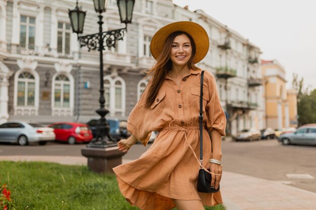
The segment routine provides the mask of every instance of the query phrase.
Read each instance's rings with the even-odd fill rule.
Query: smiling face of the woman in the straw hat
[[[189,37],[185,34],[180,34],[175,37],[172,42],[170,59],[172,66],[182,67],[186,65],[192,55],[192,45]]]

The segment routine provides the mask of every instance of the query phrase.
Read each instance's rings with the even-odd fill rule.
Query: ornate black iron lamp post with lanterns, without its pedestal
[[[79,36],[79,34],[83,32],[86,11],[84,12],[78,7],[78,0],[76,8],[69,10],[69,18],[73,33],[77,33],[80,47],[87,46],[88,51],[91,49],[97,49],[100,52],[100,108],[96,110],[96,113],[100,115],[98,122],[98,135],[95,139],[93,139],[88,147],[105,148],[112,146],[108,145],[106,141],[107,138],[112,141],[112,137],[110,135],[110,126],[105,118],[105,116],[109,113],[109,110],[107,110],[104,106],[106,99],[104,98],[103,85],[103,50],[104,47],[115,47],[116,41],[123,40],[124,32],[127,31],[127,24],[132,22],[134,3],[135,0],[117,0],[121,23],[125,23],[125,28],[102,32],[103,17],[101,14],[106,11],[108,0],[93,0],[95,12],[99,13],[99,21],[97,22],[99,24],[99,32],[85,36]]]

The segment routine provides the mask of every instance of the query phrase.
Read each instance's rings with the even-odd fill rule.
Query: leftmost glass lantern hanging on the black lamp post
[[[84,19],[86,16],[86,11],[82,11],[78,7],[78,1],[77,1],[76,8],[73,10],[69,10],[68,14],[69,14],[73,33],[81,34],[83,32],[83,25],[84,25]]]

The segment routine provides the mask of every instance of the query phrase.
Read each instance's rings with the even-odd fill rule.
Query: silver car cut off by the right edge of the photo
[[[301,126],[295,132],[283,133],[278,141],[284,145],[316,145],[316,125]]]

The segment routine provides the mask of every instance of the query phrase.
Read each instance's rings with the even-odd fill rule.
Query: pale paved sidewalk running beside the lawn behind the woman
[[[85,157],[71,156],[0,156],[1,160],[87,164]],[[227,210],[316,210],[316,193],[242,174],[224,171],[221,191]]]

